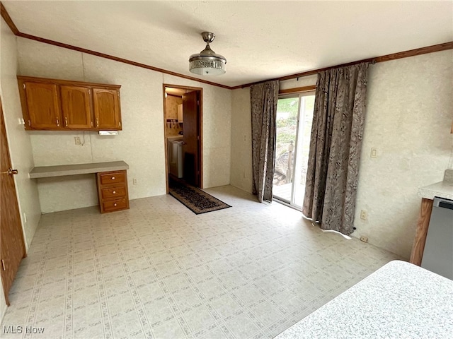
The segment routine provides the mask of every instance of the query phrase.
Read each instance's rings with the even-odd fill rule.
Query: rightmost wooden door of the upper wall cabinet
[[[120,91],[93,88],[96,129],[121,129]]]

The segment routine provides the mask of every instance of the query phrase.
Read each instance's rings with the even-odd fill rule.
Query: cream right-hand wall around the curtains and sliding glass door
[[[369,66],[367,117],[357,188],[354,237],[409,258],[420,210],[419,186],[453,167],[453,51]],[[315,85],[316,76],[280,83]],[[233,90],[231,185],[251,192],[248,89]],[[371,148],[377,158],[370,158]],[[360,220],[360,210],[368,218]]]

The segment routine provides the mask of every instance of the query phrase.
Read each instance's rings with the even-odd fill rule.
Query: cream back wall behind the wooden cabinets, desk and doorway
[[[118,136],[96,132],[30,131],[36,166],[124,160],[130,199],[166,193],[162,84],[203,88],[204,186],[229,184],[231,91],[122,64],[70,49],[18,38],[19,73],[121,85],[122,128]],[[80,136],[84,145],[75,145]],[[225,169],[227,167],[227,169]],[[137,179],[137,184],[132,184]],[[93,175],[38,180],[43,213],[95,206]],[[71,198],[67,198],[71,196]]]

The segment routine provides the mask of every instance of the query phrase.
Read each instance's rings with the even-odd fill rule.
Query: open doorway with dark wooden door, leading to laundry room
[[[202,88],[164,84],[166,192],[178,180],[202,183]]]

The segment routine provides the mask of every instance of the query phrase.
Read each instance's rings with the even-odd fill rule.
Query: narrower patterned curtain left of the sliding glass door
[[[253,194],[272,201],[278,81],[251,85]]]

